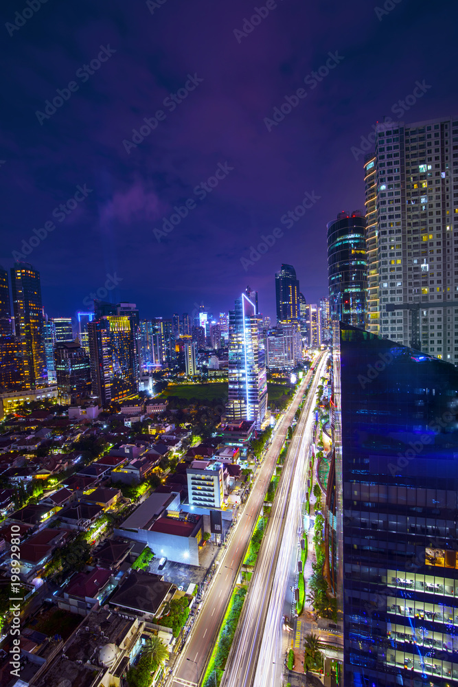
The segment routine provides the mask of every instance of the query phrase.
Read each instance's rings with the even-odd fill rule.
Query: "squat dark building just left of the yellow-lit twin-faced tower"
[[[91,394],[91,365],[84,348],[76,341],[56,343],[54,366],[60,403],[78,405]]]

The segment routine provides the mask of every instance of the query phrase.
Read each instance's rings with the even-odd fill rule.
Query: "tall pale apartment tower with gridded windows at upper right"
[[[368,329],[458,362],[458,116],[376,126],[365,161]]]

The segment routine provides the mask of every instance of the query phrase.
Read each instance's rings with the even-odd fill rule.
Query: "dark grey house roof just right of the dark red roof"
[[[172,586],[170,582],[162,581],[159,575],[133,570],[112,596],[110,603],[155,614]]]

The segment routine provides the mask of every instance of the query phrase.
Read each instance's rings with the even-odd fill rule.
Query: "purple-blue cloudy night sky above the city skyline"
[[[326,223],[363,208],[361,137],[415,82],[401,119],[458,112],[453,0],[28,1],[2,3],[0,263],[31,251],[50,316],[107,283],[142,318],[216,315],[250,284],[275,317],[282,262],[317,302]]]

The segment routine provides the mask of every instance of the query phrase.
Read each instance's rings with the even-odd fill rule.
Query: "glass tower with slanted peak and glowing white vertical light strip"
[[[259,428],[266,416],[266,352],[262,317],[243,293],[229,313],[229,401],[227,420],[254,420]]]

